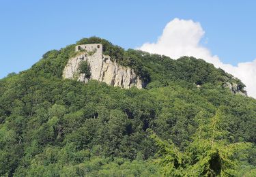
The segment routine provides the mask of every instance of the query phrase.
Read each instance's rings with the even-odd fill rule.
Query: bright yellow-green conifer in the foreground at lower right
[[[199,126],[197,133],[182,152],[169,140],[162,141],[156,133],[150,131],[150,137],[156,140],[160,158],[156,162],[167,176],[236,176],[238,157],[243,157],[244,150],[251,148],[250,143],[230,144],[221,130],[221,113],[212,118],[212,122]]]

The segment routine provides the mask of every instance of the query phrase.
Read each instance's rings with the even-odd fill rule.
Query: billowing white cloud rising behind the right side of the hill
[[[238,63],[238,66],[225,64],[218,56],[212,55],[208,48],[201,46],[200,41],[204,33],[199,22],[175,18],[165,26],[156,43],[145,43],[138,49],[165,54],[172,59],[182,56],[204,59],[242,80],[246,84],[248,95],[256,98],[256,59],[251,62]]]

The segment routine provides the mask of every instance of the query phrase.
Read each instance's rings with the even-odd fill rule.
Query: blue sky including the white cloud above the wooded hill
[[[230,0],[0,0],[0,78],[95,35],[173,59],[204,57],[256,97],[255,7],[256,1]]]

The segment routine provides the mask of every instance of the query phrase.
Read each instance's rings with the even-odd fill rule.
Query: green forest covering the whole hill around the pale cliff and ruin
[[[63,80],[77,44],[103,44],[141,90]],[[172,60],[91,37],[0,80],[0,176],[253,176],[256,100],[193,57]],[[168,140],[168,141],[167,141]]]

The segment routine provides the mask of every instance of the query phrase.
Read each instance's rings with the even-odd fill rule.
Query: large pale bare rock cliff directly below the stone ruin
[[[91,76],[85,78],[83,74],[79,74],[78,67],[81,61],[89,63]],[[88,82],[88,80],[98,80],[106,84],[119,86],[122,88],[130,88],[136,86],[143,88],[142,80],[134,73],[130,67],[123,67],[118,65],[115,61],[111,61],[109,56],[95,52],[79,52],[76,57],[68,61],[63,70],[63,78],[79,80],[81,82]]]

